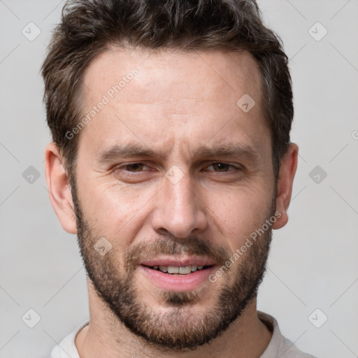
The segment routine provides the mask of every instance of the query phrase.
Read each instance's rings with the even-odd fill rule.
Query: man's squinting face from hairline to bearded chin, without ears
[[[85,111],[106,102],[78,134],[71,183],[96,294],[163,349],[202,345],[255,298],[271,241],[257,64],[246,52],[111,50],[84,83]],[[244,94],[255,101],[249,111],[236,104]]]

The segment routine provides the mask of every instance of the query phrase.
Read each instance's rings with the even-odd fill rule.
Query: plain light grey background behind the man
[[[88,315],[76,236],[60,226],[44,176],[50,136],[38,71],[62,5],[0,0],[3,358],[48,357]],[[320,358],[358,357],[358,1],[262,0],[259,5],[290,58],[292,141],[300,157],[290,220],[273,231],[258,306],[302,350]],[[41,30],[35,39],[29,22]],[[324,28],[328,33],[321,38]],[[31,178],[29,166],[39,178]],[[30,308],[41,317],[34,328],[28,327],[36,323]]]

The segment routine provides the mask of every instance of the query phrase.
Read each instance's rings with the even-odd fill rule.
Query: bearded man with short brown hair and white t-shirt
[[[90,300],[52,358],[313,357],[256,307],[298,147],[255,1],[71,1],[42,71],[50,200]]]

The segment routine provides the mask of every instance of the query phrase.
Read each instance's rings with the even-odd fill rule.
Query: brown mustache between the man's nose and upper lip
[[[158,255],[195,255],[213,259],[220,266],[225,264],[232,253],[219,245],[213,245],[202,238],[194,236],[188,239],[158,238],[150,243],[141,242],[124,252],[124,268],[128,273],[134,271],[140,262]]]

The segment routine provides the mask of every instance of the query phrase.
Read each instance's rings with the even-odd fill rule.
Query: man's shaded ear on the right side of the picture
[[[282,158],[277,187],[278,194],[276,197],[276,211],[278,211],[281,216],[278,217],[278,220],[273,224],[273,229],[280,229],[287,224],[287,209],[289,207],[289,201],[291,201],[292,185],[297,169],[298,155],[299,147],[296,144],[291,143],[285,156]]]

